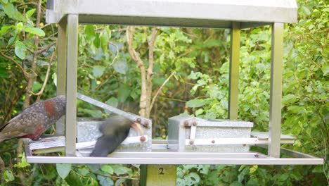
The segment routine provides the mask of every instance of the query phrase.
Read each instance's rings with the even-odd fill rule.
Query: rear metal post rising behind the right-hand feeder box
[[[240,61],[240,23],[233,22],[231,29],[230,76],[228,85],[228,118],[238,119]]]

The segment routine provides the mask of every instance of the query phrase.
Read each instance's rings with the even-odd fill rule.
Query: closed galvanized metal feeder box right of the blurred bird
[[[249,152],[249,145],[238,144],[238,141],[250,139],[253,125],[239,120],[174,116],[169,118],[168,123],[168,147],[178,151]]]

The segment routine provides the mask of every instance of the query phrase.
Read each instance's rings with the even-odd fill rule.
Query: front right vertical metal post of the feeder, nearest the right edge
[[[269,156],[280,157],[281,97],[283,68],[283,23],[272,25]]]

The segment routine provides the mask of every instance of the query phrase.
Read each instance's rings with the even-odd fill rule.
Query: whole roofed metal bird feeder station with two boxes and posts
[[[67,98],[66,116],[56,124],[62,136],[65,156],[37,156],[34,143],[25,140],[29,163],[123,163],[143,164],[142,183],[173,185],[178,164],[221,165],[311,165],[323,159],[280,148],[294,137],[281,135],[283,74],[283,25],[297,22],[295,0],[48,0],[46,22],[58,24],[57,94]],[[151,140],[151,120],[120,111],[77,93],[78,25],[149,25],[205,27],[231,30],[229,70],[229,120],[203,120],[191,116],[169,118],[167,140]],[[271,79],[269,131],[251,132],[253,123],[238,120],[240,30],[271,26]],[[147,142],[122,144],[106,158],[89,157],[90,150],[79,150],[79,143],[95,140],[100,120],[77,119],[77,99],[126,116],[145,125]],[[93,126],[94,125],[94,126]],[[93,139],[87,139],[93,137]],[[131,134],[136,138],[136,134]],[[37,144],[45,144],[43,142]],[[41,141],[42,141],[41,140]],[[132,140],[134,141],[134,139]],[[136,139],[135,139],[136,141]],[[129,144],[129,142],[127,142]],[[260,145],[267,154],[250,151]],[[35,148],[35,147],[33,147]],[[290,158],[280,158],[288,154]],[[285,156],[286,157],[286,156]],[[161,164],[161,165],[158,165]],[[167,166],[163,166],[167,165]],[[170,178],[166,176],[170,175]],[[164,179],[166,178],[166,179]]]

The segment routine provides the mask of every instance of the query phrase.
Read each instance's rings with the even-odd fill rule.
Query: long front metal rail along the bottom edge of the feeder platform
[[[166,164],[166,165],[319,165],[323,159],[258,159],[258,158],[93,158],[93,157],[53,157],[27,156],[29,163],[106,163],[106,164]]]

